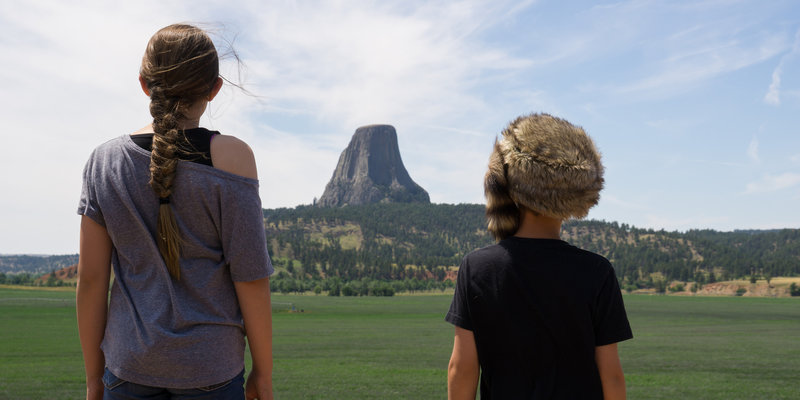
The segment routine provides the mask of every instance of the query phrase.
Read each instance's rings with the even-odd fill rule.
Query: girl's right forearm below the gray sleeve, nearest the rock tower
[[[247,400],[272,400],[272,306],[269,278],[235,282],[253,370],[247,377]]]

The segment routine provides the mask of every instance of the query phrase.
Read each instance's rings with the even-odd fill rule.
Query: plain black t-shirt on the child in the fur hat
[[[475,336],[482,400],[602,399],[595,347],[633,337],[608,260],[555,239],[468,254],[445,319]]]

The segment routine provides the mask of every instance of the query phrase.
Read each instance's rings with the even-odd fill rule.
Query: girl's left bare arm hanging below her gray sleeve
[[[111,238],[89,217],[81,217],[80,257],[76,310],[78,332],[86,369],[86,398],[103,397],[105,357],[100,343],[106,329],[108,282],[111,275]]]

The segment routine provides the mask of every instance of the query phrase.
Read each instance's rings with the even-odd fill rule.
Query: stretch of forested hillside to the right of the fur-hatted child
[[[573,221],[563,238],[605,255],[626,283],[652,280],[712,283],[800,274],[800,229],[685,233],[602,221]],[[655,275],[655,276],[654,276]]]

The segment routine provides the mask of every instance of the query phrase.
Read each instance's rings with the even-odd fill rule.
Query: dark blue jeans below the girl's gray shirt
[[[103,373],[103,400],[242,400],[244,370],[235,378],[195,389],[168,389],[139,385],[117,378],[106,368]]]

